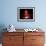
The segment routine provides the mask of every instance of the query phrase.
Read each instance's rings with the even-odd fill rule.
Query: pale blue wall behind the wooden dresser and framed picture
[[[46,0],[0,0],[0,25],[16,28],[46,28]],[[35,7],[35,22],[18,22],[17,7]]]

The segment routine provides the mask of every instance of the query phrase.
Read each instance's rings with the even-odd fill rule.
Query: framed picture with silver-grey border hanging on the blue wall
[[[17,20],[21,22],[34,22],[35,7],[18,7]]]

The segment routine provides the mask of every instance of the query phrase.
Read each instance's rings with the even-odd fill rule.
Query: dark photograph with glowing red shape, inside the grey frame
[[[33,9],[20,9],[20,19],[33,19]]]

